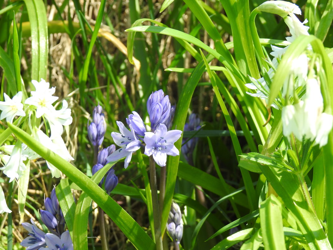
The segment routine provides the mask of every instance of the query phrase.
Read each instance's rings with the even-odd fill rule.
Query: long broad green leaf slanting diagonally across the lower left
[[[56,166],[69,179],[82,188],[95,202],[105,211],[106,214],[117,224],[124,232],[132,244],[142,250],[154,249],[155,244],[152,239],[145,233],[141,226],[104,190],[102,190],[89,177],[74,167],[69,162],[62,159],[51,150],[43,147],[38,141],[29,134],[16,127],[9,125],[13,133],[28,147],[33,148],[36,153],[45,160]]]

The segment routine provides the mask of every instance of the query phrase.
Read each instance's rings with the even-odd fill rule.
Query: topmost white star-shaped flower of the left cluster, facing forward
[[[54,109],[52,103],[54,103],[58,97],[52,96],[56,91],[55,87],[50,87],[50,83],[41,80],[37,82],[36,80],[31,81],[35,86],[36,91],[31,91],[31,97],[25,100],[25,104],[34,105],[37,107],[36,117],[39,118],[43,114],[48,113],[49,110]]]

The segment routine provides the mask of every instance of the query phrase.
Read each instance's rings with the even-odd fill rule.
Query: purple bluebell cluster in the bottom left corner
[[[53,188],[51,198],[44,200],[46,210],[40,210],[42,222],[51,233],[45,233],[39,229],[33,219],[31,224],[24,222],[22,226],[29,232],[21,246],[27,250],[49,250],[49,249],[73,249],[73,242],[68,230],[64,215],[59,206],[56,191]]]

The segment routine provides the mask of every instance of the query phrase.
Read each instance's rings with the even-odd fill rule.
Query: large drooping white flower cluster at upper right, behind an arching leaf
[[[309,35],[309,27],[304,24],[307,20],[300,22],[295,14],[301,14],[297,5],[284,1],[267,1],[257,7],[260,11],[278,14],[283,17],[289,27],[291,37],[286,37],[287,42],[292,43],[300,35]],[[260,97],[268,101],[269,86],[275,74],[275,68],[279,65],[290,45],[280,48],[271,46],[274,57],[272,67],[264,72],[266,77],[260,79],[251,78],[252,83],[246,84],[256,93],[249,93],[251,96]],[[310,139],[315,144],[323,146],[327,143],[328,134],[333,127],[333,116],[324,109],[323,97],[320,91],[320,77],[316,75],[320,69],[320,63],[315,61],[317,69],[309,69],[309,62],[316,60],[312,56],[312,48],[309,45],[306,52],[303,52],[292,62],[289,77],[283,83],[282,96],[285,97],[286,105],[282,107],[279,99],[272,104],[274,108],[282,108],[283,135],[289,139],[293,134],[298,140]],[[319,74],[318,74],[319,75]],[[305,88],[303,96],[298,96],[296,89]],[[293,97],[293,102],[290,97]]]

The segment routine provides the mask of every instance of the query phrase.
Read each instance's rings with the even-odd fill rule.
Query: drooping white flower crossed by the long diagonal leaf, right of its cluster
[[[46,134],[44,134],[42,130],[38,130],[36,133],[36,137],[44,147],[58,154],[64,160],[66,161],[74,160],[74,158],[69,154],[66,145],[60,135],[54,137],[51,140],[51,138],[49,138]],[[48,161],[46,161],[46,164],[48,168],[51,170],[52,177],[59,178],[60,170],[57,169],[53,164],[51,164]]]

